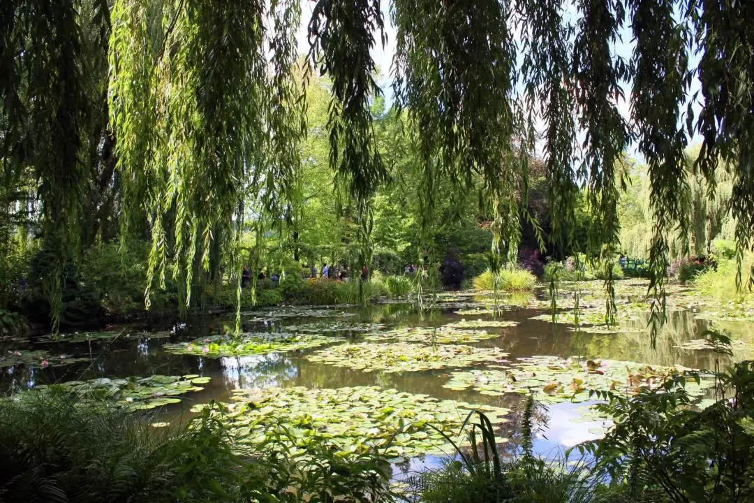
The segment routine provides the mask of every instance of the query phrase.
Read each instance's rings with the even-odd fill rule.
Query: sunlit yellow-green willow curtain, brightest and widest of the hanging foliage
[[[234,222],[247,198],[271,214],[289,197],[302,128],[292,69],[299,10],[271,3],[269,69],[265,2],[173,2],[156,39],[153,5],[115,2],[111,108],[124,192],[146,204],[152,225],[147,302],[172,256],[189,307],[195,275],[219,271],[213,253],[236,266]]]

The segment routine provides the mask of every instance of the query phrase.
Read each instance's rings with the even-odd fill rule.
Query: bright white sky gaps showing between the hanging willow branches
[[[313,0],[300,0],[301,1],[301,10],[302,10],[302,23],[299,28],[298,33],[298,41],[299,41],[299,54],[307,54],[309,50],[309,44],[307,41],[307,26],[309,23],[309,20],[311,19],[311,12],[314,9],[314,5],[316,5],[316,2]],[[385,44],[385,47],[382,47],[382,44],[375,44],[375,48],[372,50],[372,58],[375,60],[375,64],[380,70],[380,77],[378,79],[378,82],[380,86],[382,87],[382,91],[385,93],[385,102],[388,104],[388,106],[393,101],[393,90],[391,88],[391,79],[390,79],[390,69],[391,69],[391,63],[393,60],[393,55],[395,53],[395,26],[391,23],[391,17],[389,12],[389,5],[390,2],[382,2],[382,15],[385,18],[385,34],[388,35],[388,43]],[[571,20],[575,22],[576,17],[578,16],[578,11],[575,7],[575,4],[573,2],[569,2],[568,7],[566,8],[566,20]],[[514,32],[514,37],[515,37]],[[614,44],[613,50],[615,52],[615,55],[618,57],[623,58],[624,60],[630,60],[631,54],[633,53],[634,44],[632,41],[633,35],[631,34],[630,26],[624,26],[624,28],[621,30],[620,33],[620,40],[617,41],[617,43]],[[698,63],[698,57],[692,55],[689,61],[690,66],[695,66]],[[699,89],[700,82],[697,78],[694,78],[694,80],[691,83],[691,89],[689,90],[689,94],[687,97],[687,103],[689,100],[691,100],[691,96]],[[631,99],[631,89],[630,86],[627,84],[624,84],[623,86],[624,91],[624,98],[618,98],[615,100],[615,104],[618,107],[618,112],[621,112],[621,115],[628,121],[630,119],[630,99]],[[700,103],[694,103],[694,115],[696,117],[699,116],[700,112]],[[683,112],[685,112],[685,106],[683,108]],[[682,120],[680,121],[682,124],[684,124],[685,121],[685,115],[682,116]],[[544,122],[539,122],[537,125],[538,130],[544,130]],[[579,133],[580,138],[578,138],[579,143],[582,143],[584,140],[584,133],[583,131]],[[700,143],[700,136],[698,134],[694,134],[694,136],[691,138],[690,144],[694,143]],[[631,145],[627,149],[627,154],[630,157],[635,158],[637,161],[642,162],[643,157],[642,155],[637,151],[636,145]]]

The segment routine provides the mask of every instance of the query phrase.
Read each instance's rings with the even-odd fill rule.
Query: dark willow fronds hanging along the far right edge
[[[743,254],[754,246],[754,19],[752,2],[688,0],[700,62],[697,77],[704,104],[696,129],[703,136],[697,159],[714,190],[719,161],[734,170],[731,211],[741,284]],[[691,106],[688,129],[691,130]],[[749,271],[754,287],[754,264]]]

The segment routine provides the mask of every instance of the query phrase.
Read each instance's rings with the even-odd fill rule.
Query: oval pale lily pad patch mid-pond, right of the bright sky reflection
[[[428,345],[394,342],[337,345],[309,354],[307,360],[350,367],[365,372],[418,372],[446,367],[470,367],[476,363],[495,362],[507,357],[498,348],[474,348],[464,345]]]

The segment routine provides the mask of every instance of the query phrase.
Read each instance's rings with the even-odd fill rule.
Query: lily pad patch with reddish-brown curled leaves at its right
[[[452,390],[473,388],[482,394],[534,393],[542,403],[589,399],[589,391],[637,394],[659,388],[667,379],[683,373],[683,367],[650,367],[618,360],[572,360],[553,356],[518,358],[501,370],[471,370],[452,374],[443,385]],[[689,380],[686,391],[700,397],[711,382]]]

